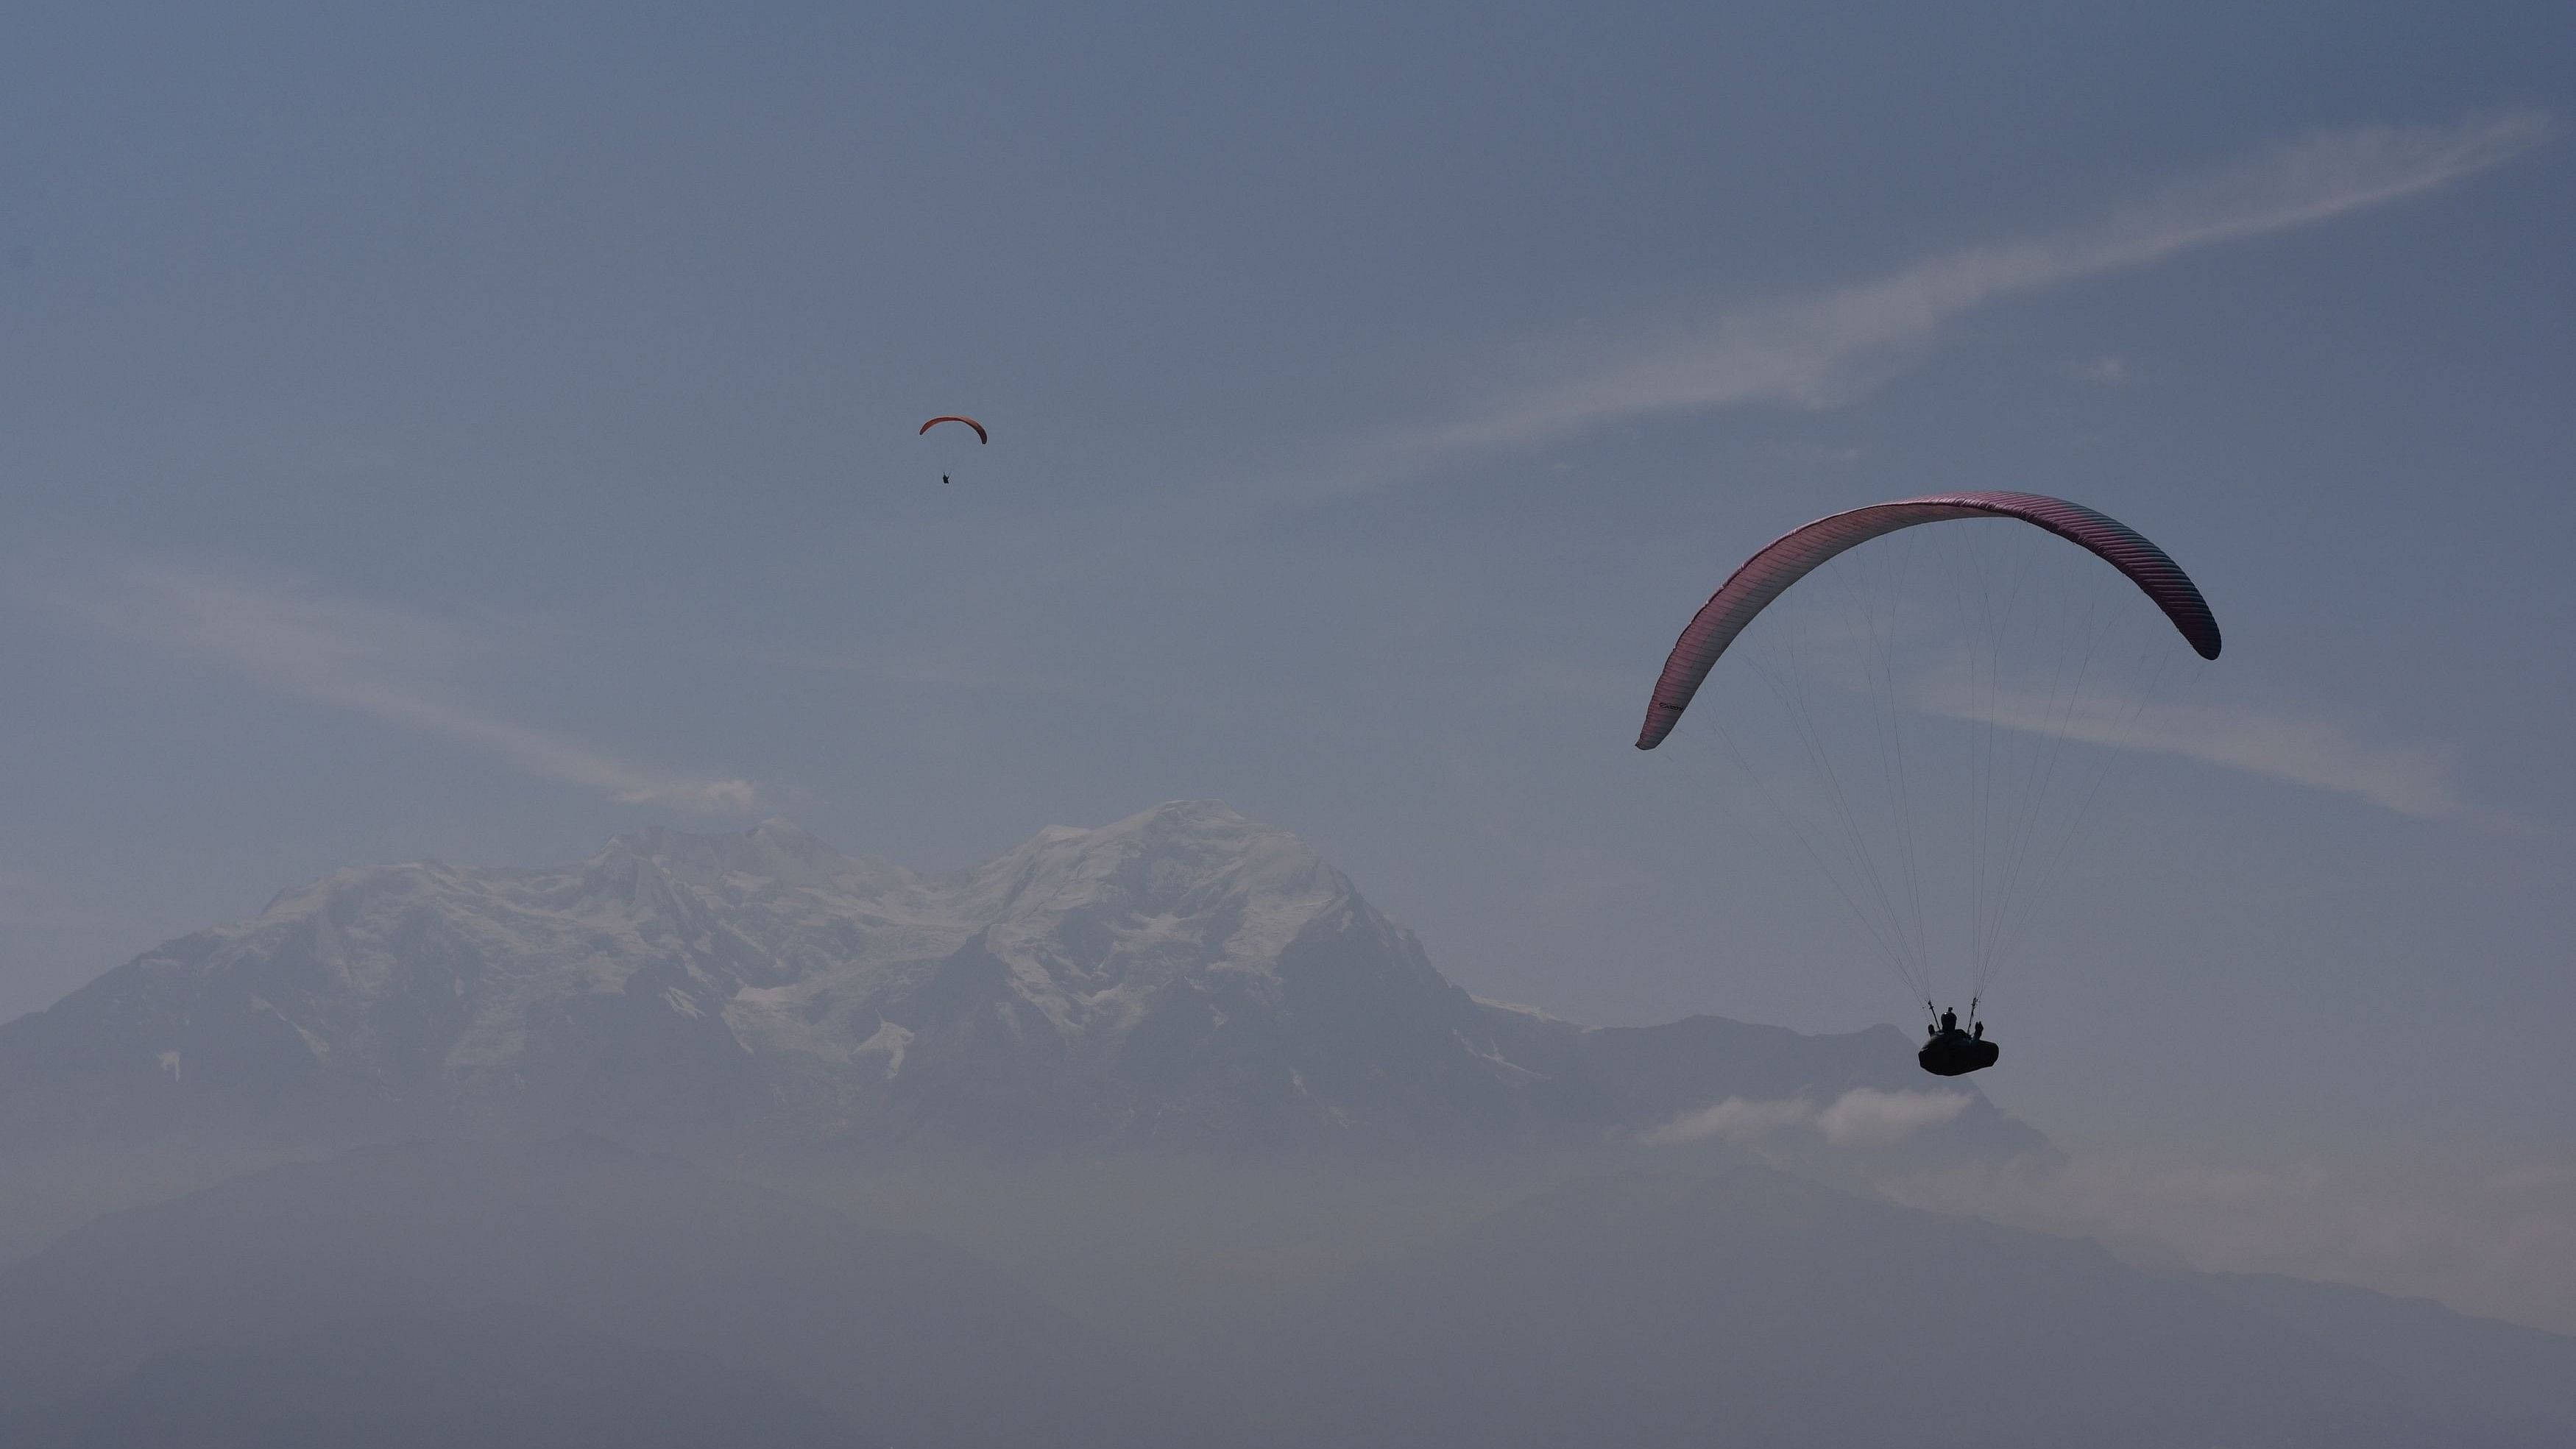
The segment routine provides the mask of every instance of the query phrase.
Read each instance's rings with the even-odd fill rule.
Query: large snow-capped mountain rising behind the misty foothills
[[[1262,1145],[1600,1132],[1855,1086],[1917,1086],[1896,1032],[1584,1029],[1476,1001],[1293,834],[1203,800],[953,878],[786,821],[634,831],[556,870],[340,870],[0,1027],[21,1127],[319,1112]],[[1984,1099],[1960,1122],[2038,1143]]]

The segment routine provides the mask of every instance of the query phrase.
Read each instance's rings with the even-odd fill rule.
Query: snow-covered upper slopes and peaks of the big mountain
[[[1108,1053],[1151,991],[1195,970],[1267,970],[1345,901],[1350,880],[1296,836],[1216,803],[1048,829],[963,883],[840,854],[788,821],[649,826],[564,867],[335,870],[250,921],[147,952],[59,1011],[144,986],[185,1001],[160,1011],[157,1037],[252,1014],[289,1029],[270,1071],[327,1063],[384,1089],[523,1073],[567,1011],[616,996],[729,1037],[708,1050],[850,1060],[902,1040],[886,1027],[912,1029],[907,1001],[981,942],[1046,1022],[1105,1032]],[[152,1042],[155,1066],[165,1055],[206,1048]]]

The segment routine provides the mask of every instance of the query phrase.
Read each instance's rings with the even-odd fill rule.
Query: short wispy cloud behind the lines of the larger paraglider
[[[2452,785],[2450,752],[2419,744],[2370,744],[2342,726],[2272,710],[2200,703],[2141,703],[2112,695],[2071,705],[2035,692],[1978,692],[1958,685],[1914,690],[1917,710],[1958,721],[2099,744],[2148,754],[2179,754],[2249,775],[2354,795],[2419,821],[2463,821],[2488,829],[2527,829],[2481,811]]]

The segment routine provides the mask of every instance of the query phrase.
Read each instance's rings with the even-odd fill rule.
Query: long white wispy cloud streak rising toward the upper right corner
[[[1986,304],[2416,196],[2512,160],[2548,129],[2545,116],[2519,111],[2452,126],[2318,131],[2081,226],[1927,257],[1821,296],[1723,311],[1682,335],[1631,337],[1620,350],[1553,350],[1571,358],[1553,376],[1489,396],[1453,422],[1381,438],[1368,453],[1376,476],[1388,479],[1651,414],[1829,407]]]

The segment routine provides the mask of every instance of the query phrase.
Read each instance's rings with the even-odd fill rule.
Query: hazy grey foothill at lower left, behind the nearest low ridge
[[[1082,1320],[971,1253],[587,1135],[363,1148],[111,1212],[0,1271],[0,1408],[495,1302],[778,1377],[896,1444],[1164,1434]]]

